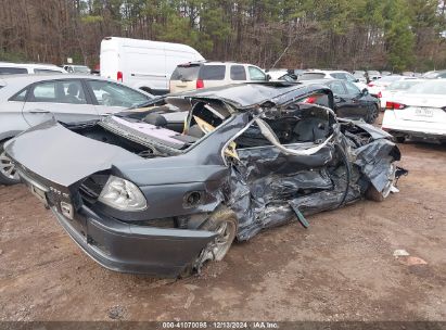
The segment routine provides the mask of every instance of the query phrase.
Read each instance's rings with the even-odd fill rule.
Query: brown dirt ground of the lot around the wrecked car
[[[25,187],[0,187],[0,320],[446,320],[446,145],[400,148],[400,193],[265,231],[178,281],[100,267]]]

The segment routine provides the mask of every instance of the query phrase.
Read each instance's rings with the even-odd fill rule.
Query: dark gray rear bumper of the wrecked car
[[[97,263],[123,272],[176,277],[214,238],[213,232],[161,229],[100,217],[87,206],[73,219],[51,207],[72,239]]]

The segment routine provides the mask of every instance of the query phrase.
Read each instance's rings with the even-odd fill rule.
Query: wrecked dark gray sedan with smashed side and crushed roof
[[[306,103],[314,97],[326,106]],[[307,215],[396,189],[392,137],[337,120],[332,104],[323,86],[235,85],[90,123],[47,122],[5,151],[94,261],[177,277],[222,259],[234,240],[307,227]]]

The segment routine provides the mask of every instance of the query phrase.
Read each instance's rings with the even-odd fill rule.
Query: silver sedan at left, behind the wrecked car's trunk
[[[89,122],[146,103],[152,96],[91,75],[12,75],[0,78],[0,185],[20,181],[3,144],[51,120]]]

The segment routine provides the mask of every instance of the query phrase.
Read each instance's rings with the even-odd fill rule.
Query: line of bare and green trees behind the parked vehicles
[[[93,66],[107,36],[265,68],[446,67],[443,0],[0,0],[0,60]]]

